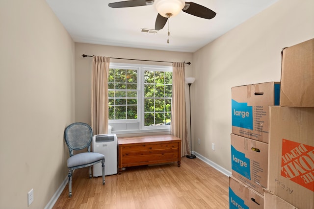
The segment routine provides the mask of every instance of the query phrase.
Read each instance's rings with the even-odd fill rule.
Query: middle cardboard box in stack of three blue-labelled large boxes
[[[231,134],[232,175],[263,194],[267,186],[268,144]]]

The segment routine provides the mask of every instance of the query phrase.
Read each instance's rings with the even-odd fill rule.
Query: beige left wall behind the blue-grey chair
[[[74,42],[45,0],[0,1],[0,208],[43,209],[67,176]]]

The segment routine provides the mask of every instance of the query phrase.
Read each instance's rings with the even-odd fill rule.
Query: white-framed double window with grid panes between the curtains
[[[113,131],[169,130],[172,67],[110,63],[108,99]]]

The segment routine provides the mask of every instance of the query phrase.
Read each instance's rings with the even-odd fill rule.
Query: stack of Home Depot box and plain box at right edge
[[[267,189],[298,209],[313,209],[314,39],[283,49],[280,106],[269,112]]]

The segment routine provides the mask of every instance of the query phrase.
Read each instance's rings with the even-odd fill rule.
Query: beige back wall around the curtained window
[[[83,58],[81,56],[82,54],[101,55],[101,56],[107,56],[107,57],[128,58],[128,59],[157,60],[157,61],[167,61],[167,62],[183,62],[183,61],[192,62],[192,53],[186,53],[186,52],[171,52],[171,51],[75,43],[76,119],[77,121],[86,122],[88,124],[90,124],[90,119],[91,119],[90,118],[91,117],[90,100],[91,100],[92,58],[91,57]],[[110,62],[172,66],[172,63],[120,60],[120,59],[110,59]],[[192,68],[193,68],[193,62],[191,65],[185,65],[185,74],[187,77],[192,75],[193,73]],[[187,85],[186,85],[186,91],[188,91]],[[118,135],[118,136],[124,136],[124,135]]]

